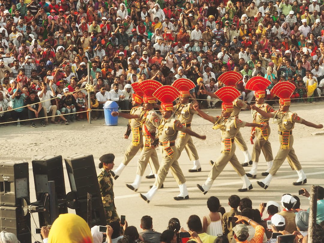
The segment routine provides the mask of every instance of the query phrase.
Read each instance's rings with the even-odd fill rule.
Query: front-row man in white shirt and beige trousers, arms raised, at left
[[[46,78],[47,79],[47,78]],[[51,97],[55,97],[55,91],[52,87],[53,84],[53,80],[50,80],[50,88],[51,90],[47,90],[47,84],[45,82],[41,82],[41,91],[39,91],[37,93],[40,101],[44,101],[42,102],[42,106],[44,109],[44,115],[45,115],[45,125],[48,125],[48,118],[47,118],[47,113],[51,113],[51,116],[55,116],[56,115],[56,110],[57,110],[57,106],[56,105],[52,105],[51,104],[51,100],[49,100]],[[55,121],[55,117],[51,117],[51,122],[54,124],[57,124],[57,122]]]

